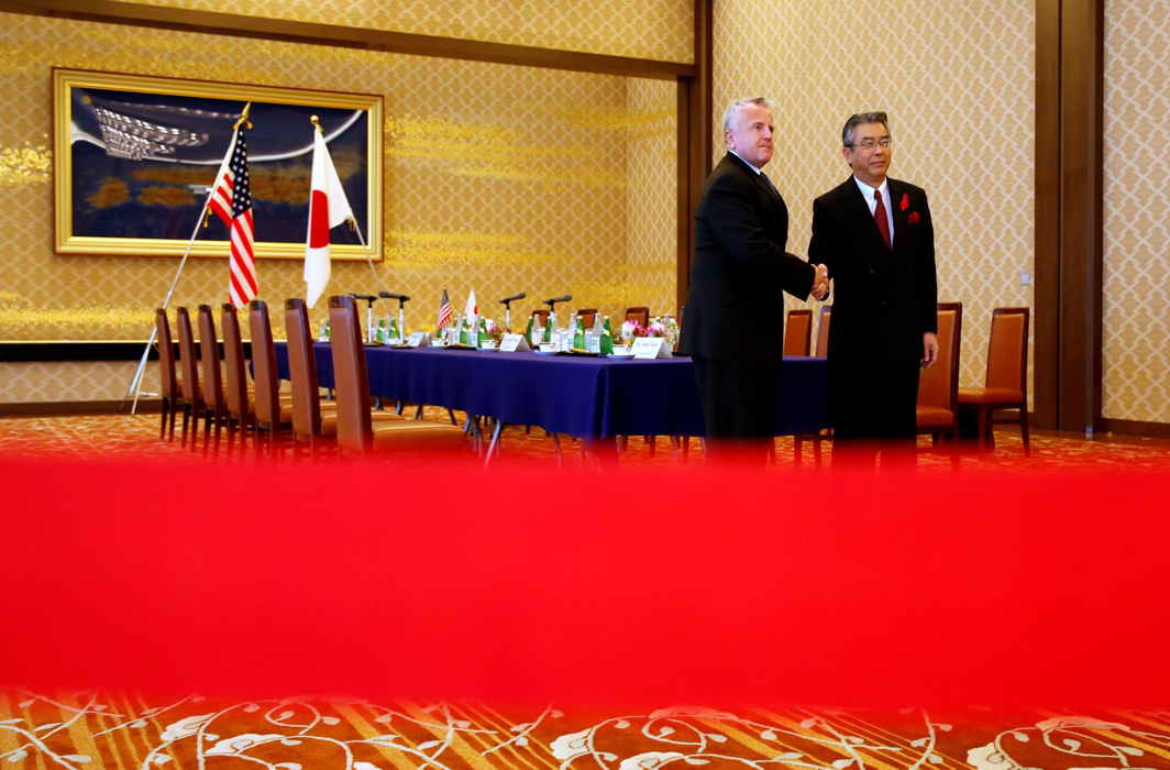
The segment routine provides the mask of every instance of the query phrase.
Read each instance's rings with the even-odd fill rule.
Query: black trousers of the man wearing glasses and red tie
[[[918,362],[828,362],[833,467],[913,468],[917,438]]]

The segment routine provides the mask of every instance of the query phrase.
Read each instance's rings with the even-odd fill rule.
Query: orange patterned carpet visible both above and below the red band
[[[427,419],[443,413],[428,411]],[[197,466],[195,451],[157,439],[157,415],[0,419],[0,455],[56,460],[174,458]],[[1083,441],[1033,438],[1025,458],[1017,436],[1000,433],[994,452],[964,454],[963,470],[1013,474],[1170,470],[1165,441]],[[929,449],[924,441],[923,449]],[[580,445],[563,440],[564,465],[596,467]],[[831,453],[826,442],[825,456]],[[790,472],[793,445],[778,439],[773,472]],[[215,458],[214,447],[208,458]],[[551,461],[543,431],[510,427],[502,462]],[[227,461],[226,442],[219,461]],[[333,462],[324,458],[321,462]],[[632,438],[620,462],[680,467],[701,462],[659,439],[652,451]],[[921,466],[949,473],[950,459],[927,452]],[[804,451],[811,470],[812,451]],[[15,479],[4,479],[13,486]],[[19,577],[19,576],[12,576]],[[11,582],[9,582],[11,584]],[[16,606],[16,605],[6,605]],[[64,609],[64,612],[69,612]],[[6,612],[7,633],[20,633]],[[1119,633],[1124,634],[1122,621]],[[1162,628],[1164,632],[1165,630]],[[1157,628],[1155,627],[1155,632]],[[993,632],[994,633],[994,632]],[[1117,654],[1123,642],[1106,658]],[[277,700],[174,696],[116,690],[26,689],[11,666],[0,682],[0,766],[12,768],[270,768],[287,770],[390,768],[813,768],[818,770],[1096,770],[1170,769],[1170,710],[1071,706],[860,709],[768,707],[710,702],[649,707],[583,707],[573,702],[524,707],[480,701],[371,701],[335,694]],[[121,680],[119,680],[121,681]]]

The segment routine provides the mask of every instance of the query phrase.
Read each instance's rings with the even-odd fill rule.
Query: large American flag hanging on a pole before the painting
[[[252,187],[248,181],[248,144],[240,130],[232,137],[232,146],[220,166],[207,206],[232,232],[228,295],[232,304],[246,308],[256,297],[256,254],[252,228]]]

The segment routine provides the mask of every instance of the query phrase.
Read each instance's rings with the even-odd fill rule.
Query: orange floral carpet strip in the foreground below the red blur
[[[1170,711],[674,706],[590,714],[337,696],[151,700],[7,689],[0,690],[0,766],[1170,768]]]

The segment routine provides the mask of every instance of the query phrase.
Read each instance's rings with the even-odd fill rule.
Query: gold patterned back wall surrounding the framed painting
[[[433,325],[445,288],[489,317],[517,290],[519,315],[565,291],[608,314],[674,302],[673,84],[0,14],[0,95],[32,105],[0,124],[0,339],[145,339],[178,266],[53,253],[53,66],[383,94],[385,261],[377,279],[335,262],[326,294],[410,294],[411,326]],[[257,270],[270,304],[303,294],[300,260]],[[192,260],[172,307],[226,296],[227,261]]]

